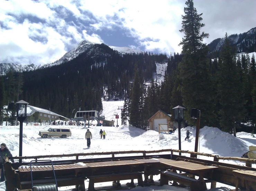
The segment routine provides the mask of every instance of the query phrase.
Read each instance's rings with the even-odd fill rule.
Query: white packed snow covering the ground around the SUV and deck
[[[118,112],[118,106],[122,106],[123,101],[109,101],[103,102],[103,114],[113,115],[112,113]],[[116,110],[116,111],[115,111]],[[116,120],[115,120],[116,121]],[[47,130],[50,126],[23,126],[23,156],[35,156],[35,155],[50,155],[50,154],[71,154],[71,153],[94,153],[94,152],[107,152],[107,151],[131,151],[131,150],[161,150],[161,149],[178,149],[178,132],[167,135],[164,134],[163,139],[159,140],[159,134],[156,131],[143,131],[139,128],[132,126],[121,125],[121,119],[118,121],[119,127],[100,127],[90,126],[92,132],[91,148],[87,148],[85,140],[86,128],[81,126],[64,126],[70,128],[72,136],[61,138],[47,138],[42,139],[38,133],[40,130]],[[116,122],[115,122],[116,125]],[[53,126],[58,127],[58,126]],[[105,130],[107,135],[106,139],[100,139],[100,129]],[[186,130],[190,130],[192,135],[190,139],[184,141],[186,136]],[[13,156],[19,155],[19,126],[0,126],[0,142],[6,143]],[[194,150],[195,145],[195,127],[186,127],[181,130],[181,148],[182,150]],[[238,156],[241,157],[248,151],[250,145],[255,145],[256,139],[249,133],[241,132],[237,133],[237,137],[229,133],[220,131],[218,128],[205,126],[200,130],[200,147],[199,151],[203,153],[218,154],[220,156]],[[128,155],[128,154],[126,154]],[[126,156],[125,154],[119,156]],[[189,156],[189,154],[188,154]],[[106,157],[104,155],[99,156],[84,156],[85,158]],[[72,157],[69,157],[71,159]],[[213,160],[211,157],[200,156],[201,159]],[[53,158],[52,160],[60,160],[61,158]],[[62,158],[62,160],[68,159]],[[74,158],[72,158],[74,159]],[[15,160],[18,161],[18,160]],[[30,160],[24,160],[29,162]],[[233,164],[245,165],[244,162],[239,161],[220,161]],[[254,165],[253,167],[256,168]],[[158,180],[159,176],[154,176],[154,180]],[[127,181],[121,181],[126,183]],[[85,186],[88,188],[88,180],[85,181]],[[111,185],[112,182],[97,183],[95,187]],[[207,185],[210,188],[210,184]],[[224,184],[217,183],[215,190],[229,190],[229,187]],[[60,190],[68,190],[74,187],[62,187]],[[147,187],[136,188],[139,191],[151,191],[151,190],[175,190],[175,191],[188,191],[188,189],[174,188],[168,185],[164,187]],[[234,189],[234,188],[233,188]],[[5,190],[4,182],[0,183],[0,190]]]

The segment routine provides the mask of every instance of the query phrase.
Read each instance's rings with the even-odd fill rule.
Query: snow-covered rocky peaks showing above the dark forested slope
[[[70,50],[66,54],[64,54],[63,57],[61,57],[60,59],[58,59],[55,62],[50,63],[50,64],[36,66],[35,64],[19,65],[19,64],[13,64],[13,63],[0,63],[0,74],[2,74],[2,75],[5,74],[6,71],[10,67],[12,67],[15,71],[20,71],[20,70],[21,71],[29,71],[29,70],[34,70],[34,69],[38,69],[38,68],[59,65],[65,61],[69,61],[69,60],[76,58],[78,55],[82,54],[83,52],[85,52],[88,49],[93,49],[96,45],[97,44],[94,42],[89,42],[89,41],[83,40],[75,48],[73,48],[72,50]],[[109,47],[112,48],[113,50],[118,51],[120,54],[126,54],[126,53],[129,53],[129,54],[136,53],[137,54],[137,53],[144,52],[142,50],[132,49],[129,47],[116,47],[116,46],[109,46]],[[20,67],[20,69],[19,69],[19,67]]]

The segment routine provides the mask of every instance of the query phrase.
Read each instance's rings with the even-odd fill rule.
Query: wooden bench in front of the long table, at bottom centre
[[[98,174],[87,176],[89,179],[88,191],[94,191],[94,183],[98,182],[110,182],[110,181],[120,181],[120,180],[131,180],[138,179],[138,185],[143,187],[142,172],[127,172],[127,173],[117,173],[117,174]]]

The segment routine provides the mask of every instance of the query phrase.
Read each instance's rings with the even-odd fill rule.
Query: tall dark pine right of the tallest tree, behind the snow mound
[[[220,98],[220,125],[223,130],[234,133],[236,123],[245,117],[245,101],[235,55],[231,52],[227,33],[218,66],[218,96]]]

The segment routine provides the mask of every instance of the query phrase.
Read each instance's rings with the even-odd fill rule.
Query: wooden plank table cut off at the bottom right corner
[[[237,177],[236,191],[241,182],[245,182],[247,191],[256,191],[256,171],[234,170],[233,174]]]

